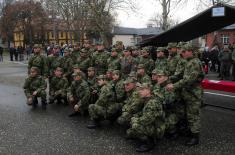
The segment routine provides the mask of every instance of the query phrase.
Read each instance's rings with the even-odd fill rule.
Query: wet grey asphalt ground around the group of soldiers
[[[88,118],[69,118],[70,107],[50,105],[47,111],[25,104],[22,85],[26,65],[0,63],[0,154],[136,154],[124,131],[108,123],[86,129]],[[218,93],[218,92],[217,92]],[[220,92],[221,93],[221,92]],[[230,94],[235,96],[234,94]],[[235,108],[235,98],[205,94],[204,102]],[[235,112],[202,109],[201,144],[185,147],[185,138],[163,139],[148,154],[235,154]]]

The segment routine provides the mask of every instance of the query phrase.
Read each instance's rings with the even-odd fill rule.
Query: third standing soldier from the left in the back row
[[[62,57],[62,67],[64,74],[63,76],[67,78],[68,81],[72,80],[72,72],[73,72],[73,60],[70,56],[71,50],[69,48],[64,49],[64,57]]]

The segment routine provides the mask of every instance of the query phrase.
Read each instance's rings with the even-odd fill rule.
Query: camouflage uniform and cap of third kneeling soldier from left
[[[73,73],[73,76],[80,76],[82,78],[81,73]],[[67,96],[68,98],[74,98],[75,101],[73,103],[70,102],[70,104],[72,104],[73,107],[77,104],[82,114],[84,114],[84,112],[88,110],[90,91],[89,86],[85,80],[74,80],[70,88],[68,89]]]

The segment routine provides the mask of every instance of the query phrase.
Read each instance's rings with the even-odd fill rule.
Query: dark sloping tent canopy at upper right
[[[217,16],[215,16],[215,14],[212,13],[215,11],[214,8],[222,8],[222,10],[224,8],[224,15],[221,16],[221,14],[217,14]],[[235,7],[219,3],[166,32],[143,40],[140,46],[159,47],[166,46],[169,42],[189,41],[233,23],[235,23]]]

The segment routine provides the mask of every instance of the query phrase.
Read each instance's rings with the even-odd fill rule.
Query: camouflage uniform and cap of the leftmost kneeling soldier
[[[32,67],[35,68],[35,70],[39,71],[39,69],[37,67]],[[46,106],[46,88],[47,88],[47,84],[46,81],[44,80],[44,78],[40,75],[37,75],[36,77],[32,77],[29,76],[25,79],[25,83],[24,83],[24,93],[28,98],[32,97],[32,102],[33,102],[33,106],[36,106],[37,104],[37,97],[41,97],[42,99],[42,107]],[[37,92],[36,96],[33,96],[33,92]],[[31,103],[28,102],[29,105],[31,105]]]

